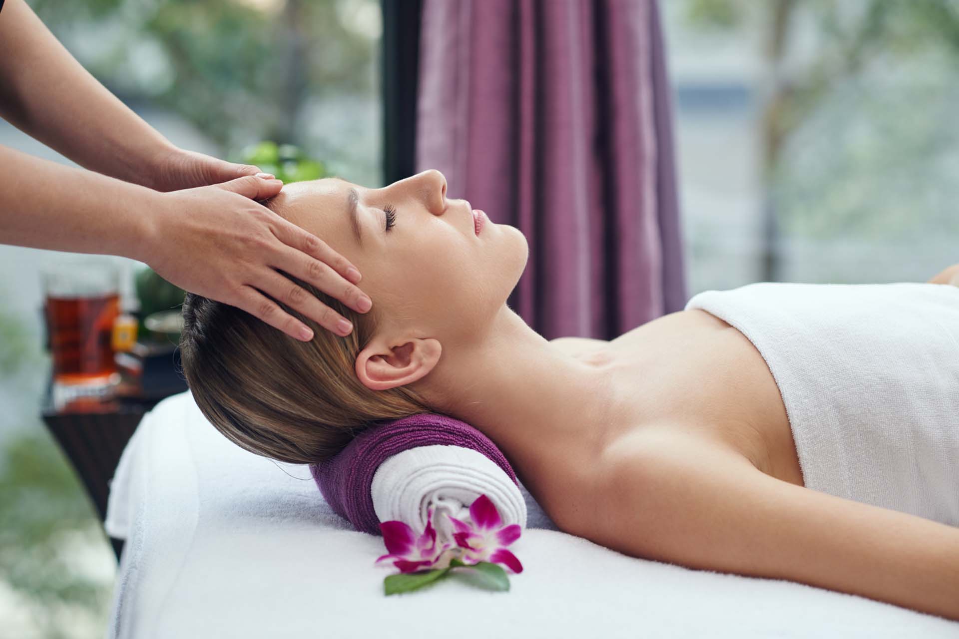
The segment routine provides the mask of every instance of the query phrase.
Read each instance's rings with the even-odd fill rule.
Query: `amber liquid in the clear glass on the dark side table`
[[[54,378],[85,383],[116,372],[110,337],[120,313],[120,295],[47,297],[47,331],[54,359]]]

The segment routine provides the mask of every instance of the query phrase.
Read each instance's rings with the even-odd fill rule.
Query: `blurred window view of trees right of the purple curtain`
[[[954,3],[661,7],[690,294],[959,262]]]

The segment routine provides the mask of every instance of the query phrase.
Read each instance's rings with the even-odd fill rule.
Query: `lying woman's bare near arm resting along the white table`
[[[959,528],[789,484],[710,445],[663,440],[607,462],[596,543],[959,621]]]

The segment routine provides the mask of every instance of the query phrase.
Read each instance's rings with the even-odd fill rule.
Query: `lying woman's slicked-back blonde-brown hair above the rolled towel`
[[[193,293],[183,303],[183,374],[200,411],[250,452],[292,464],[328,460],[380,420],[430,408],[405,387],[373,391],[357,378],[357,354],[376,330],[374,311],[357,313],[293,278],[353,323],[341,337],[282,302],[313,329],[302,342],[245,310]]]

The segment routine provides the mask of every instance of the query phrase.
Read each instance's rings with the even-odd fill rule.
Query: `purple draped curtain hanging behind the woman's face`
[[[416,170],[529,242],[509,305],[612,339],[687,300],[654,0],[425,0]]]

